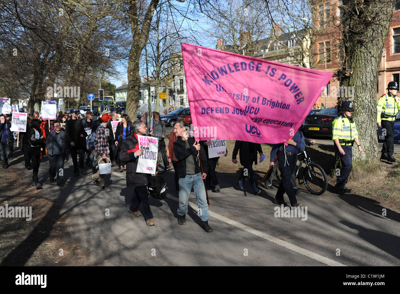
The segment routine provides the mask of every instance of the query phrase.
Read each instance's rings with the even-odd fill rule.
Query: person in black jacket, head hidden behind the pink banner
[[[253,192],[255,195],[257,195],[261,192],[261,190],[258,189],[256,179],[254,178],[253,162],[257,165],[257,152],[260,152],[260,156],[262,156],[261,145],[258,143],[246,141],[236,141],[235,147],[232,152],[232,162],[234,164],[238,163],[238,161],[236,160],[236,155],[238,154],[238,151],[240,164],[242,164],[243,166],[243,171],[239,176],[238,184],[236,185],[235,189],[243,192],[246,191],[246,189],[243,188],[243,183],[247,175]]]

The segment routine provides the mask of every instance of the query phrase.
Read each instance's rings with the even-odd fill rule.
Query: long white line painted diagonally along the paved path
[[[172,199],[172,200],[175,200],[175,201],[179,200],[179,198],[177,198],[175,196],[172,196],[171,194],[167,194],[167,197]],[[198,210],[198,206],[196,204],[194,204],[194,203],[192,203],[190,201],[188,202],[188,204],[195,211]],[[215,212],[212,212],[210,210],[208,210],[208,213],[210,214],[210,216],[212,216],[212,217],[214,217],[214,218],[216,218],[218,220],[221,220],[222,222],[226,222],[228,224],[231,224],[232,226],[235,226],[236,228],[240,228],[242,230],[245,230],[246,232],[249,232],[251,234],[254,234],[256,236],[264,238],[265,240],[271,241],[271,242],[273,242],[275,244],[278,244],[280,246],[283,246],[285,248],[293,250],[293,251],[295,251],[297,253],[300,253],[300,254],[308,256],[308,257],[310,257],[312,259],[318,260],[319,262],[327,264],[328,266],[346,266],[344,264],[341,264],[340,262],[337,262],[337,261],[334,261],[332,259],[326,258],[326,257],[324,257],[322,255],[316,254],[314,252],[311,252],[311,251],[309,251],[307,249],[301,248],[301,247],[296,246],[294,244],[290,244],[290,243],[288,243],[286,241],[283,241],[283,240],[280,240],[278,238],[275,238],[274,236],[271,236],[271,235],[268,235],[266,233],[260,232],[259,230],[255,230],[253,228],[250,228],[250,227],[248,227],[248,226],[246,226],[244,224],[241,224],[240,222],[235,222],[234,220],[231,220],[230,218],[226,218],[225,216],[222,216],[222,215],[217,214]]]

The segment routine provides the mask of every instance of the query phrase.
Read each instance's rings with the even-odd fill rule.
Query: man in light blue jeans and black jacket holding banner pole
[[[174,142],[174,153],[178,159],[179,174],[179,207],[178,224],[185,225],[185,215],[188,213],[188,200],[190,190],[194,190],[197,204],[199,207],[199,216],[202,220],[202,228],[207,232],[212,232],[208,225],[208,204],[206,198],[206,188],[203,179],[207,177],[207,157],[203,146],[196,144],[194,138],[188,138],[189,126],[186,121],[178,121],[174,125],[174,133],[177,140]],[[199,151],[203,165],[203,173],[200,169]]]

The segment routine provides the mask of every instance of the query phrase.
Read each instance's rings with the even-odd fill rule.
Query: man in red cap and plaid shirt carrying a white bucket
[[[94,133],[94,156],[96,156],[98,163],[100,163],[100,160],[108,162],[106,158],[110,160],[110,148],[108,148],[107,142],[108,129],[106,129],[106,126],[111,117],[108,114],[103,114],[101,119],[102,122]],[[94,180],[94,184],[100,186],[101,190],[108,190],[104,180],[104,174],[100,174],[99,170],[96,174],[92,175],[92,179]]]

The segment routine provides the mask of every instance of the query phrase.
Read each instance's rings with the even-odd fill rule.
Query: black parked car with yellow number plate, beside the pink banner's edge
[[[337,116],[338,110],[334,107],[306,116],[303,126],[304,136],[332,138],[332,122]]]

